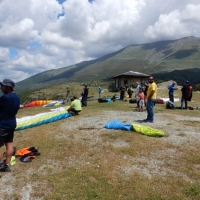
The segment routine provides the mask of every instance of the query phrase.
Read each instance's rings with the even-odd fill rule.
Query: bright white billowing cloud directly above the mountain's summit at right
[[[197,35],[196,31],[199,29],[198,24],[200,23],[199,9],[200,5],[189,4],[182,12],[174,10],[168,14],[161,14],[158,21],[146,29],[144,35],[146,38],[154,40],[177,39]]]

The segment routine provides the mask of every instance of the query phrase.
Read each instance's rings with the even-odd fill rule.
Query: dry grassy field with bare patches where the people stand
[[[65,88],[60,88],[63,95]],[[97,96],[97,87],[90,94]],[[113,94],[105,90],[103,96]],[[180,90],[175,94],[180,98]],[[159,89],[158,96],[167,97],[167,91]],[[200,105],[199,99],[194,93],[189,105]],[[144,119],[146,113],[135,106],[128,99],[88,101],[79,116],[16,131],[17,149],[35,146],[41,155],[30,163],[17,160],[11,173],[1,174],[0,199],[200,199],[200,110],[157,104],[155,123],[148,125],[164,130],[161,138],[103,128],[114,119],[128,124]],[[17,117],[48,111],[26,108]]]

